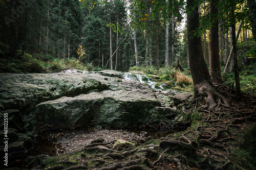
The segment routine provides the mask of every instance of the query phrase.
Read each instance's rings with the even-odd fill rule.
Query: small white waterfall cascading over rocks
[[[124,80],[138,81],[140,83],[147,84],[152,89],[163,89],[162,87],[163,85],[159,85],[159,88],[156,88],[155,85],[157,84],[157,82],[152,81],[146,75],[132,74],[131,72],[125,72],[123,78]]]

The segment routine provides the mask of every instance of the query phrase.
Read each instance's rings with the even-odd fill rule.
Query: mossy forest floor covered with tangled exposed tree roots
[[[136,145],[116,150],[108,148],[113,141],[95,140],[75,153],[28,158],[25,160],[27,167],[51,170],[256,169],[256,98],[244,93],[238,100],[233,89],[222,85],[216,88],[226,96],[231,107],[220,104],[215,111],[208,111],[199,105],[199,99],[183,103],[184,119],[179,124],[190,125],[184,131],[160,139],[137,138]]]

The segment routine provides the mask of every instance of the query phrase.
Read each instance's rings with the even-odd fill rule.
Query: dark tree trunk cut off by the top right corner
[[[247,0],[247,5],[250,12],[251,32],[255,40],[255,53],[256,53],[256,2],[255,0]]]

